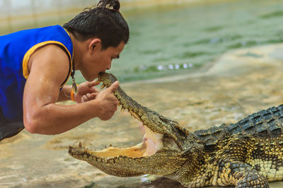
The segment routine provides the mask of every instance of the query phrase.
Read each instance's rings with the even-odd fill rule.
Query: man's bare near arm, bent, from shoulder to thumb
[[[67,99],[59,89],[68,75],[69,58],[59,46],[37,49],[28,68],[30,75],[23,94],[23,122],[31,133],[60,134],[91,118],[108,120],[117,111],[118,101],[113,92],[118,82],[99,92],[94,100],[74,105],[55,104]],[[68,86],[64,89],[70,91]]]

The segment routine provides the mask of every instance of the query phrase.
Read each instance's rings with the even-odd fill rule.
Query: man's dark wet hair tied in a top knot
[[[118,0],[100,0],[97,6],[86,8],[63,27],[80,41],[98,37],[102,49],[117,47],[121,42],[127,44],[129,27],[119,9]]]

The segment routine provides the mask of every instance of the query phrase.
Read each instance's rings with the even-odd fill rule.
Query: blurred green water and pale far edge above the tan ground
[[[283,42],[283,1],[120,0],[130,40],[111,73],[120,82],[203,71],[231,49]],[[0,35],[62,25],[97,1],[0,0]],[[83,81],[76,73],[79,82]]]

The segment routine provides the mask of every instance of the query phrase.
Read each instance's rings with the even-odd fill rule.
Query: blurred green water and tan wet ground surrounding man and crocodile
[[[235,123],[248,114],[282,102],[283,46],[252,49],[283,42],[282,0],[120,2],[120,12],[129,24],[130,39],[120,59],[112,62],[110,72],[120,82],[142,80],[122,84],[129,96],[142,105],[194,131]],[[0,35],[62,25],[96,3],[0,0]],[[227,51],[233,52],[222,56]],[[206,71],[210,67],[214,72]],[[163,77],[187,78],[166,82]],[[154,78],[164,82],[144,82]],[[83,82],[79,72],[76,81]],[[137,121],[127,112],[115,113],[110,121],[93,118],[56,136],[23,130],[17,137],[0,142],[0,187],[157,188],[151,183],[152,177],[108,176],[88,163],[74,160],[67,152],[69,145],[79,142],[101,149],[110,143],[133,146],[142,137],[137,131]],[[156,184],[163,188],[179,187],[164,179]],[[275,182],[270,187],[283,187],[282,184]]]

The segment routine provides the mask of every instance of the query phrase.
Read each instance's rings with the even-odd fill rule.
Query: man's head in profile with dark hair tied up
[[[86,44],[86,53],[79,60],[79,70],[86,80],[109,69],[129,40],[129,27],[119,9],[118,0],[100,0],[96,7],[86,8],[63,25],[76,40]]]

